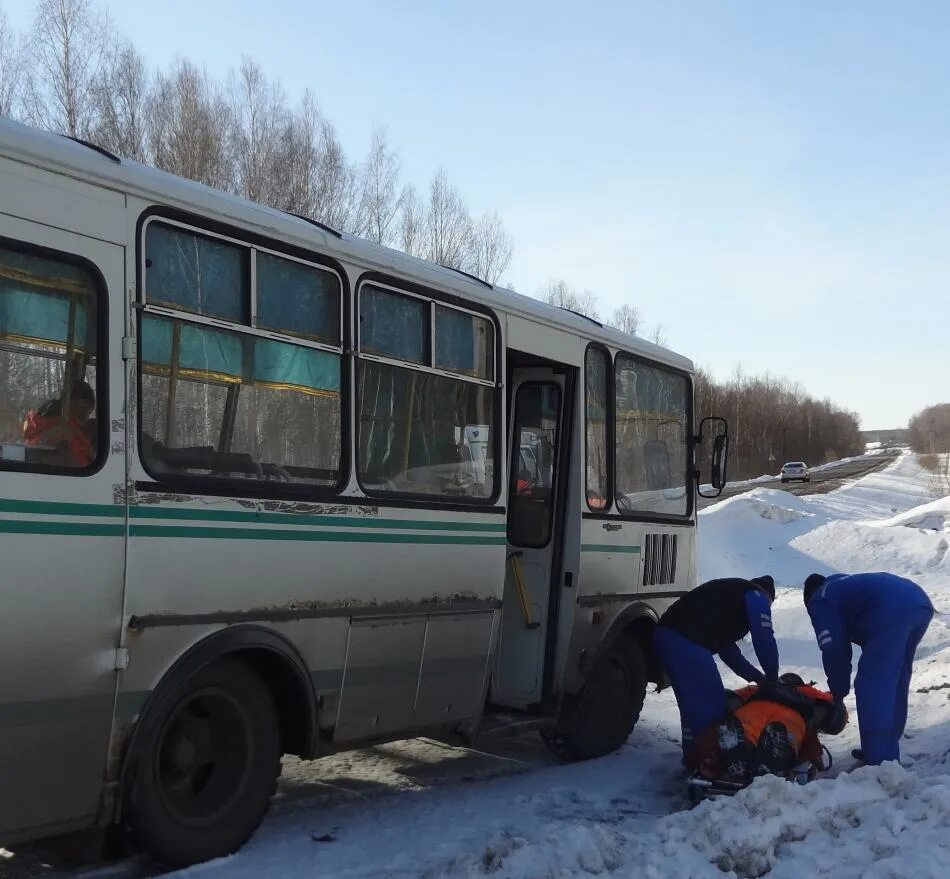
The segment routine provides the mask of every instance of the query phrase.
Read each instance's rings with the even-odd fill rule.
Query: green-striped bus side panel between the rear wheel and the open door
[[[339,505],[321,517],[313,504],[259,515],[264,502],[157,497],[139,493],[130,510],[128,614],[144,618],[129,640],[130,699],[214,614],[294,644],[335,741],[477,713],[504,583],[502,517]]]

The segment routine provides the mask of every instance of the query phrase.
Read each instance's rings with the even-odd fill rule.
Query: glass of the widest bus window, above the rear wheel
[[[178,228],[169,234],[163,223],[148,225],[146,254],[146,312],[156,300],[183,312],[141,319],[141,452],[149,472],[338,484],[339,279],[268,251],[219,246]],[[211,312],[241,323],[210,325],[194,314]]]

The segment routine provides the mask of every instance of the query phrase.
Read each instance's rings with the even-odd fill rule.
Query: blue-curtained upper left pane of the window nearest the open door
[[[429,363],[429,303],[378,287],[360,291],[360,350]]]

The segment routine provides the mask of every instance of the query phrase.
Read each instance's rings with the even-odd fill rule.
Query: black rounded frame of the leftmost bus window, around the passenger
[[[105,466],[110,445],[109,285],[99,266],[87,257],[8,236],[0,236],[0,247],[76,266],[89,274],[96,291],[96,457],[86,467],[8,461],[0,458],[0,471],[49,476],[94,476]],[[25,415],[26,413],[24,417]]]

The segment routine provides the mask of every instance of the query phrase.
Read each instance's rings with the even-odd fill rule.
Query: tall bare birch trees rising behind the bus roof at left
[[[188,59],[152,70],[93,0],[37,0],[23,34],[0,6],[0,115],[492,284],[511,262],[497,212],[473,215],[443,169],[405,183],[384,127],[353,161],[312,92],[291,105],[247,56],[223,82]]]

